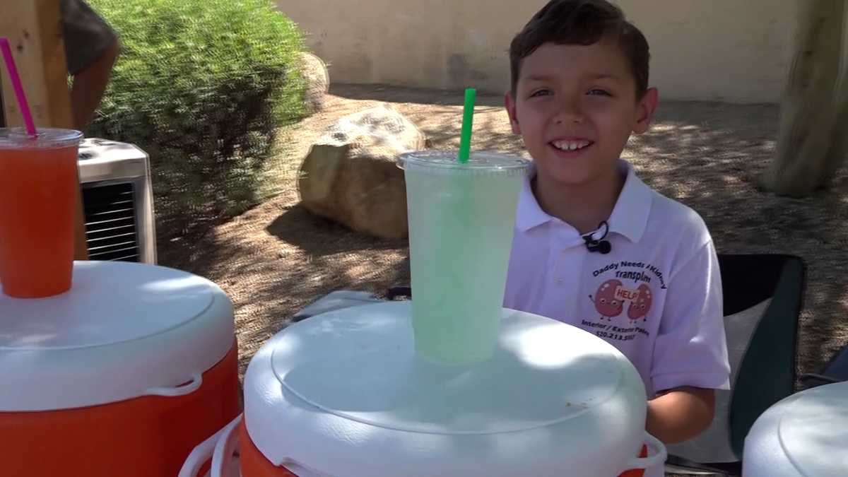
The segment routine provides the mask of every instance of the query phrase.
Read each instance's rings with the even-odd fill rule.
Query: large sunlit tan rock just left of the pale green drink
[[[424,149],[424,134],[388,106],[330,126],[300,171],[300,199],[318,216],[385,239],[407,236],[406,186],[398,155]]]

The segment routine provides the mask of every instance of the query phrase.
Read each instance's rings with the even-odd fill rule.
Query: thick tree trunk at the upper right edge
[[[763,185],[800,197],[822,188],[848,154],[848,7],[845,0],[805,0],[789,70],[777,157]]]

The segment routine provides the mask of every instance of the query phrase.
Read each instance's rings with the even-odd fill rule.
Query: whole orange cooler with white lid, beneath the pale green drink
[[[243,418],[179,477],[210,456],[211,477],[630,477],[665,460],[639,373],[612,345],[504,310],[494,357],[447,366],[416,355],[410,312],[355,306],[276,334],[248,367]]]

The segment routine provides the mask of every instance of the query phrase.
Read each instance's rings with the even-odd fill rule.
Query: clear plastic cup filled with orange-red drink
[[[76,166],[82,133],[43,128],[37,137],[0,128],[0,286],[15,298],[70,289]]]

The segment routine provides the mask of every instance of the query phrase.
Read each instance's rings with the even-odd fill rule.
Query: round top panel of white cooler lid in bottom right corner
[[[848,382],[803,391],[781,411],[780,442],[799,474],[848,474]]]

